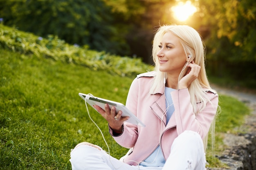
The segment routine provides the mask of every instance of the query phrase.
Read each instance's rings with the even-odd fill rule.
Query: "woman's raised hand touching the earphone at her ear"
[[[195,64],[194,61],[189,63],[187,65],[188,70],[186,72],[186,75],[182,77],[179,81],[179,89],[185,89],[188,88],[189,85],[198,78],[198,74],[200,72],[201,67],[197,64]]]

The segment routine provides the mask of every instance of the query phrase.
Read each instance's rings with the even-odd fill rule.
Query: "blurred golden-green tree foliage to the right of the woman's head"
[[[207,30],[207,72],[232,86],[256,88],[256,1],[200,0],[200,30]],[[230,84],[230,82],[229,82]]]

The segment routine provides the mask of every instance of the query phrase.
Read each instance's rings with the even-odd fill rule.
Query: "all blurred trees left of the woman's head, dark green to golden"
[[[150,60],[159,24],[173,22],[175,0],[0,0],[7,26],[41,37],[57,35],[69,44]],[[161,10],[160,10],[161,9]],[[152,12],[157,11],[157,12]]]

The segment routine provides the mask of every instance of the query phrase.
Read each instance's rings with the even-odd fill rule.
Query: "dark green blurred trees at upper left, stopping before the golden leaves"
[[[0,0],[4,24],[41,37],[57,35],[70,44],[127,54],[128,46],[112,26],[110,7],[102,0]],[[119,38],[115,38],[119,37]]]

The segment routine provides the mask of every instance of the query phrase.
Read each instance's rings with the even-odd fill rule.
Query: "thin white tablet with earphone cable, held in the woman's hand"
[[[111,101],[111,100],[106,100],[106,99],[103,99],[103,98],[94,97],[94,96],[92,96],[90,94],[79,93],[79,96],[81,98],[83,98],[83,100],[85,100],[90,106],[98,105],[103,110],[105,110],[105,104],[106,103],[109,105],[110,108],[114,106],[116,108],[117,112],[119,110],[122,111],[122,116],[123,117],[126,117],[126,116],[130,117],[128,120],[126,120],[126,122],[129,122],[129,123],[132,123],[132,124],[136,124],[136,125],[145,127],[145,124],[142,123],[134,114],[132,114],[132,112],[129,111],[125,107],[125,105],[123,105],[122,103],[114,102],[114,101]],[[92,108],[95,109],[93,106],[92,106]]]

